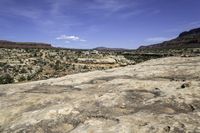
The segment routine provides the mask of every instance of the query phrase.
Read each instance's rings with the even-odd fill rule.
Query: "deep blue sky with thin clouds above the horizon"
[[[200,27],[200,0],[0,0],[0,39],[137,48]]]

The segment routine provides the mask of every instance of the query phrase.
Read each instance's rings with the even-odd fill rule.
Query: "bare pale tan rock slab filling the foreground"
[[[3,133],[199,133],[200,57],[0,86]]]

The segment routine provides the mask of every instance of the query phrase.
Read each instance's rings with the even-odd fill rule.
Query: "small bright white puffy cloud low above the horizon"
[[[67,36],[67,35],[61,35],[56,38],[57,40],[65,40],[66,43],[70,43],[71,41],[79,41],[79,42],[85,42],[85,39],[81,39],[78,36]]]

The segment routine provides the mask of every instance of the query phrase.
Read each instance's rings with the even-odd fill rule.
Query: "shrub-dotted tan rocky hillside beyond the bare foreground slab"
[[[0,84],[42,80],[130,64],[135,62],[123,55],[94,50],[41,49],[38,45],[37,49],[0,48]]]

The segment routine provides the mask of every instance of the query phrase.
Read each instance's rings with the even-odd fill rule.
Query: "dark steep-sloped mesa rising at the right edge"
[[[200,28],[181,33],[177,38],[159,44],[141,46],[138,50],[200,48]]]

